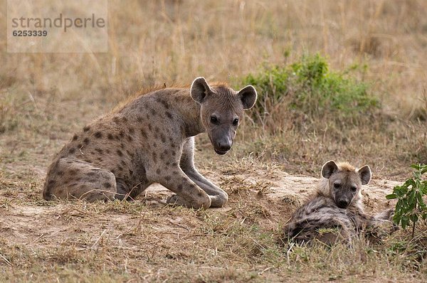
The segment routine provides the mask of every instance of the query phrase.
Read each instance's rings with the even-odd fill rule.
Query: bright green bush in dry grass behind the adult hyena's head
[[[255,117],[291,110],[310,117],[333,114],[338,119],[374,112],[379,100],[369,93],[368,85],[355,78],[330,71],[325,58],[303,56],[291,65],[274,65],[243,78],[258,91]],[[332,115],[330,115],[332,116]]]

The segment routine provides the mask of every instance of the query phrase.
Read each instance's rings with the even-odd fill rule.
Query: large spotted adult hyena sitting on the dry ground
[[[194,168],[194,136],[207,132],[226,154],[256,97],[251,85],[236,92],[204,78],[139,95],[73,136],[48,169],[43,197],[122,200],[156,182],[175,193],[168,203],[221,207],[227,193]]]

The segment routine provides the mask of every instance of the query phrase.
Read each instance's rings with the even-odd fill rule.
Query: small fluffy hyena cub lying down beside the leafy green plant
[[[364,213],[361,188],[371,180],[369,166],[355,169],[348,163],[328,161],[322,167],[322,176],[315,195],[285,226],[288,240],[320,240],[330,245],[337,240],[350,243],[362,234],[379,237],[394,230],[393,209],[374,216]]]

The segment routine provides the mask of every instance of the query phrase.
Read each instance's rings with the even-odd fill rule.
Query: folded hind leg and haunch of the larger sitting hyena
[[[112,201],[116,181],[112,172],[77,159],[58,159],[48,170],[43,198],[77,198],[89,202]]]

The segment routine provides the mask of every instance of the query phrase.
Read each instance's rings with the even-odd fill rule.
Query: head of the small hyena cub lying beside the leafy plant
[[[367,165],[355,169],[348,163],[336,164],[331,160],[323,165],[322,176],[328,179],[330,196],[334,202],[339,208],[347,208],[362,197],[360,190],[362,185],[371,180],[371,169]]]

